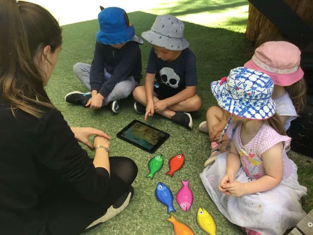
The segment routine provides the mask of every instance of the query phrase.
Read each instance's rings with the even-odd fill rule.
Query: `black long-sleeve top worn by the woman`
[[[30,224],[23,218],[32,222],[40,217],[33,208],[58,182],[69,185],[78,196],[94,203],[107,192],[108,171],[94,167],[61,112],[44,110],[46,113],[40,119],[21,110],[14,117],[0,93],[2,231],[7,231],[8,224],[16,226],[8,228],[9,232],[18,227],[26,229]]]

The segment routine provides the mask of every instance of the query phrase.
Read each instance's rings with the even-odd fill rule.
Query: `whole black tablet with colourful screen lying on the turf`
[[[170,137],[170,134],[133,120],[116,136],[152,154]]]

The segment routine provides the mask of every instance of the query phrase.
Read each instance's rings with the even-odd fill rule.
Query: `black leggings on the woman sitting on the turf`
[[[77,235],[125,193],[135,180],[138,168],[126,157],[110,157],[108,194],[99,204],[81,199],[68,188],[57,188],[44,200],[43,210],[49,214],[45,227],[38,235]]]

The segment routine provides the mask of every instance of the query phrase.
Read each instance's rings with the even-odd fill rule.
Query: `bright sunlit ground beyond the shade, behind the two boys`
[[[89,0],[88,3],[76,0],[29,0],[47,8],[59,21],[60,25],[73,24],[96,19],[100,12],[99,6],[121,7],[126,12],[143,11],[154,15],[172,14],[181,20],[208,27],[219,27],[244,32],[245,27],[234,27],[231,23],[248,18],[248,2],[243,0]]]

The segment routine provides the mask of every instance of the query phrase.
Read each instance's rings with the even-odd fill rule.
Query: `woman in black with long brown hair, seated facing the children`
[[[79,234],[128,205],[136,164],[109,159],[105,133],[70,128],[50,102],[44,85],[62,44],[55,18],[33,3],[0,5],[1,233]],[[93,162],[77,140],[96,149]]]

